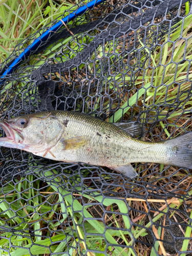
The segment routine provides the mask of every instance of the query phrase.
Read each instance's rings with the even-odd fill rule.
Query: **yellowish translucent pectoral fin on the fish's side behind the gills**
[[[61,139],[63,150],[77,150],[80,147],[86,146],[90,142],[90,138],[86,136],[72,137],[69,139]]]

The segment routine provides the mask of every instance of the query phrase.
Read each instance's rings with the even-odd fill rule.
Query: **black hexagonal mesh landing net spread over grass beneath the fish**
[[[51,31],[89,3],[66,10],[1,64],[1,120],[54,109],[137,120],[145,141],[190,131],[191,2],[100,1]],[[191,255],[191,170],[133,166],[138,177],[129,179],[1,147],[0,254]]]

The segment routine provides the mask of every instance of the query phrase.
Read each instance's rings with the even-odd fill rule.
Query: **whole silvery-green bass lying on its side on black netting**
[[[160,142],[134,138],[139,122],[109,123],[73,111],[45,111],[0,121],[7,137],[0,146],[18,148],[56,161],[106,166],[126,177],[138,174],[131,163],[192,167],[192,132]]]

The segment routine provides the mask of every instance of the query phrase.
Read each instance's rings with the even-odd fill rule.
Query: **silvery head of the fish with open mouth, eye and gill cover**
[[[57,118],[48,116],[46,112],[4,120],[0,125],[7,135],[0,138],[0,146],[32,153],[46,151],[54,146],[63,132]]]

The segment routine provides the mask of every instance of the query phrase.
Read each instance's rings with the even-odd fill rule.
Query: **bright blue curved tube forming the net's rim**
[[[105,0],[93,0],[89,2],[87,5],[79,7],[76,11],[72,12],[65,18],[63,18],[63,22],[68,23],[75,17],[81,15],[82,13],[86,12],[88,9],[92,9],[94,6],[97,6],[101,3],[103,3]],[[49,37],[51,31],[55,32],[57,31],[61,26],[63,26],[61,20],[59,20],[53,27],[51,27],[49,30],[44,32],[41,36],[39,36],[35,41],[28,46],[9,66],[9,68],[6,69],[6,71],[2,74],[1,78],[4,78],[6,75],[9,75],[13,73],[14,69],[18,67],[19,63],[22,60],[25,60],[30,55],[31,51],[34,51],[37,49],[37,47],[40,45],[41,41],[46,41]],[[9,63],[7,64],[9,65]]]

